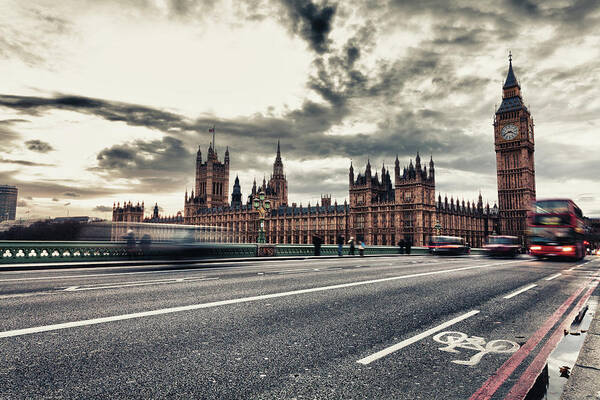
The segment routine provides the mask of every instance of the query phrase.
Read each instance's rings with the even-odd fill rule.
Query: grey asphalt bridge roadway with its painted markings
[[[404,256],[3,272],[0,399],[504,398],[599,271]]]

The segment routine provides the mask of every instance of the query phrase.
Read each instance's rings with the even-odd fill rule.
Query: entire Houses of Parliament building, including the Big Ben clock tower
[[[320,202],[306,206],[288,201],[288,181],[284,173],[280,143],[277,143],[273,172],[262,184],[256,181],[251,193],[242,196],[236,177],[229,194],[230,154],[219,159],[214,140],[206,160],[201,149],[196,155],[195,186],[185,193],[184,212],[161,217],[155,206],[144,218],[143,204],[113,207],[113,221],[179,223],[214,228],[212,240],[255,243],[259,236],[259,214],[252,199],[264,193],[271,209],[265,216],[267,243],[310,244],[319,236],[325,244],[354,237],[368,245],[395,245],[407,240],[416,246],[427,245],[433,235],[460,236],[474,247],[481,246],[491,234],[524,236],[526,213],[535,200],[534,124],[523,102],[521,86],[513,71],[512,58],[503,85],[502,103],[494,115],[494,143],[498,179],[498,205],[478,199],[464,200],[437,195],[435,163],[431,157],[394,169],[375,170],[370,161],[364,170],[348,171],[349,201]]]

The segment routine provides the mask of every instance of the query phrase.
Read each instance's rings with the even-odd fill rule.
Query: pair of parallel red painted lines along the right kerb
[[[498,370],[487,380],[485,383],[469,398],[469,400],[487,400],[490,399],[498,388],[508,379],[508,377],[517,369],[519,365],[529,356],[533,349],[541,342],[546,336],[548,331],[563,317],[567,312],[571,304],[577,299],[577,297],[583,292],[583,290],[589,285],[587,292],[581,297],[577,305],[571,310],[567,318],[564,321],[570,321],[575,317],[578,310],[585,304],[592,292],[598,285],[598,281],[592,283],[592,279],[585,282],[584,285],[580,286],[575,293],[573,293],[555,312],[544,322],[544,324],[531,336],[531,338],[525,343],[519,350],[517,350]],[[559,324],[556,329],[552,332],[550,338],[546,344],[542,347],[538,355],[531,362],[527,370],[521,375],[517,383],[511,388],[506,399],[523,399],[529,389],[533,385],[535,379],[541,372],[542,368],[546,364],[548,356],[554,350],[557,343],[563,337],[562,324]]]

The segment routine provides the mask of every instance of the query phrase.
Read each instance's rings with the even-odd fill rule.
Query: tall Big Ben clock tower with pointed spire
[[[494,117],[500,231],[525,236],[527,210],[535,200],[534,125],[509,55],[502,104]]]

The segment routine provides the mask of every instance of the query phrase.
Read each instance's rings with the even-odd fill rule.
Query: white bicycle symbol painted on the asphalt
[[[462,332],[447,331],[438,333],[433,337],[438,343],[445,344],[447,346],[440,347],[439,350],[447,351],[449,353],[460,353],[456,350],[467,349],[478,351],[474,356],[468,360],[453,360],[455,364],[461,365],[477,365],[484,355],[490,353],[514,353],[519,349],[519,344],[511,342],[510,340],[490,340],[485,342],[485,339],[479,336],[471,336]]]

